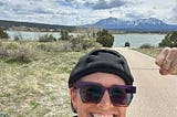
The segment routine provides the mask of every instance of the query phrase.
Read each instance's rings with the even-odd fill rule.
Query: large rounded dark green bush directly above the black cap
[[[112,47],[114,43],[114,36],[105,29],[96,33],[96,42],[101,43],[105,47]]]

